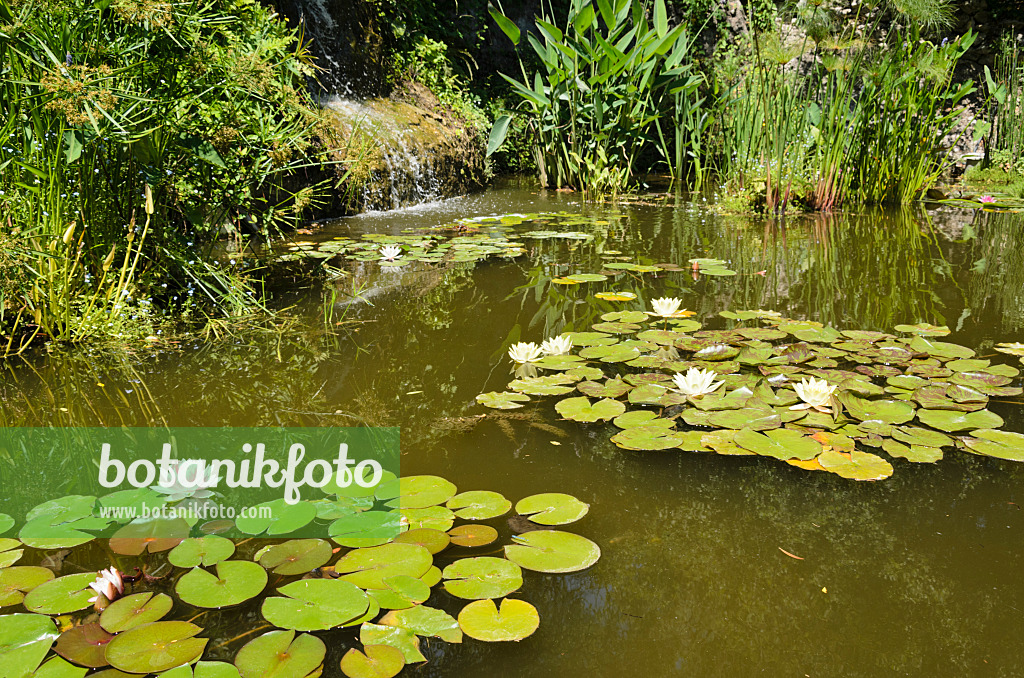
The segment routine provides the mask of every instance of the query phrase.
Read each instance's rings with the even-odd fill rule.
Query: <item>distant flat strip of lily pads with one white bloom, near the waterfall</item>
[[[524,232],[514,230],[514,226],[526,222],[550,227]],[[608,223],[608,219],[568,212],[480,216],[426,229],[407,229],[401,235],[366,234],[361,240],[338,237],[321,243],[297,242],[280,254],[276,260],[340,258],[347,261],[377,261],[382,266],[402,266],[414,261],[472,262],[492,256],[513,259],[525,253],[522,240],[590,241],[594,239],[593,234],[571,228]],[[559,229],[556,230],[555,226]]]

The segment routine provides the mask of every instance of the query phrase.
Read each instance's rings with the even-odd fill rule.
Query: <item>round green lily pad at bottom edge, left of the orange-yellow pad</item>
[[[234,656],[241,678],[306,678],[319,675],[327,646],[308,633],[270,631],[250,640]]]

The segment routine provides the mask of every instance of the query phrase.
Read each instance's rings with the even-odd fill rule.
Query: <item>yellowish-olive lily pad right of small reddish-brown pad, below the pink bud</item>
[[[116,635],[106,644],[105,658],[127,673],[167,671],[202,656],[207,639],[196,637],[202,631],[188,622],[145,624]]]

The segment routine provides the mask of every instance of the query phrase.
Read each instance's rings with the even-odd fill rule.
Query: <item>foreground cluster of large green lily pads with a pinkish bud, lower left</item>
[[[512,502],[496,492],[459,493],[432,475],[315,503],[329,540],[271,539],[269,523],[243,542],[204,534],[202,525],[191,536],[121,537],[106,544],[117,566],[98,575],[58,577],[74,550],[54,554],[42,543],[28,550],[22,540],[0,539],[0,608],[8,612],[0,615],[0,675],[313,678],[325,670],[327,646],[312,633],[350,629],[341,671],[388,678],[426,661],[422,638],[520,640],[540,625],[536,607],[510,597],[523,570],[578,571],[601,551],[557,528],[587,514],[574,497],[534,495],[514,508],[521,534],[502,557],[472,550],[499,539],[481,521],[506,515]],[[23,558],[38,564],[15,564]],[[196,623],[203,610],[247,603],[239,624],[257,624],[238,636],[253,637],[233,663],[203,661],[213,644]],[[437,604],[461,609],[453,616]],[[274,630],[253,635],[264,627]]]

